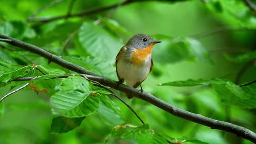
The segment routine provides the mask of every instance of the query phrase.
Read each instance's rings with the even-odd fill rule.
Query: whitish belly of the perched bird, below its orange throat
[[[119,77],[126,81],[128,86],[134,86],[137,82],[146,79],[150,71],[151,59],[145,61],[145,64],[137,66],[131,63],[125,63],[120,59],[117,63]]]

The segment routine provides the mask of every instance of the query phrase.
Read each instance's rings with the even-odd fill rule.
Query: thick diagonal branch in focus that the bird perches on
[[[102,77],[102,76],[100,76],[96,73],[93,73],[91,71],[88,71],[76,64],[65,61],[62,58],[58,57],[57,55],[51,54],[51,53],[47,52],[46,50],[41,49],[35,45],[27,44],[27,43],[24,43],[17,39],[14,39],[14,38],[11,38],[8,36],[4,36],[4,35],[0,35],[0,38],[10,39],[11,41],[7,41],[7,43],[9,43],[11,45],[18,46],[18,47],[23,48],[32,53],[43,56],[46,59],[51,60],[52,62],[57,63],[57,64],[63,66],[64,68],[67,68],[74,72],[84,73],[85,76],[90,80],[98,81],[99,83],[101,83],[104,86],[108,86],[113,89],[116,89],[116,90],[119,90],[119,91],[122,91],[125,93],[129,93],[129,94],[137,97],[138,99],[143,99],[143,100],[155,105],[158,108],[165,110],[166,112],[168,112],[176,117],[181,117],[183,119],[186,119],[186,120],[189,120],[189,121],[192,121],[192,122],[204,125],[204,126],[209,126],[210,128],[213,128],[213,129],[219,129],[219,130],[231,132],[231,133],[241,136],[247,140],[250,140],[251,142],[256,143],[256,133],[254,133],[253,131],[251,131],[245,127],[234,125],[234,124],[224,122],[224,121],[219,121],[219,120],[212,119],[209,117],[204,117],[199,114],[194,114],[189,111],[186,111],[186,110],[183,110],[180,108],[176,108],[176,107],[166,103],[165,101],[156,98],[151,93],[140,92],[137,89],[134,89],[134,88],[129,87],[124,84],[119,84],[119,86],[117,87],[118,82],[110,80],[105,77]]]

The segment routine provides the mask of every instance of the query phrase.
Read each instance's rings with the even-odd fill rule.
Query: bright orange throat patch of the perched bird
[[[144,63],[149,54],[152,54],[152,48],[154,44],[148,45],[146,48],[143,49],[136,49],[133,51],[131,55],[132,64],[134,65],[141,65]]]

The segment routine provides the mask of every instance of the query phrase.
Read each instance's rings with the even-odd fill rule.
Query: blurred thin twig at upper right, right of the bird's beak
[[[217,33],[223,33],[223,32],[230,32],[230,31],[247,31],[247,30],[253,30],[249,27],[218,27],[210,31],[202,32],[196,35],[192,35],[190,37],[199,39],[206,36],[211,36]]]

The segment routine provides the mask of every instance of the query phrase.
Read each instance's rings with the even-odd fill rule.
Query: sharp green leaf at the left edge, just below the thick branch
[[[35,68],[30,65],[21,66],[0,61],[0,83],[7,84],[19,77],[32,76],[34,72]]]

